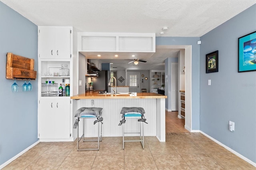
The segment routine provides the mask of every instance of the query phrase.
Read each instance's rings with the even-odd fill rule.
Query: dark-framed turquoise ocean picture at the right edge
[[[256,70],[256,31],[238,38],[238,72]]]

